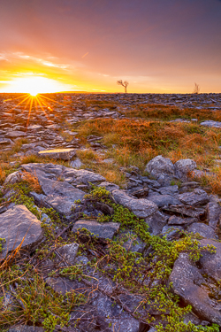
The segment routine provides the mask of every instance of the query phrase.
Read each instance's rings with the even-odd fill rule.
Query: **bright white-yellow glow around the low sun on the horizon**
[[[40,93],[53,93],[65,91],[66,89],[67,85],[59,81],[42,76],[29,76],[13,79],[4,90],[5,92],[29,93],[35,97]]]

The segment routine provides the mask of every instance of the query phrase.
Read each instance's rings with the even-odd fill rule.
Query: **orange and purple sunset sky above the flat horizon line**
[[[220,0],[1,0],[0,92],[221,93]]]

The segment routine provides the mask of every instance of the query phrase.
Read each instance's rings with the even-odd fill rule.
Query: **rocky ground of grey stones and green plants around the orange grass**
[[[220,95],[57,94],[31,112],[4,101],[15,97],[0,96],[2,330],[219,331],[221,198],[200,181],[211,171],[156,155],[144,169],[116,164],[116,184],[79,158],[114,162],[78,126],[136,123],[130,109],[160,104],[206,108],[210,118],[169,121],[219,130]]]

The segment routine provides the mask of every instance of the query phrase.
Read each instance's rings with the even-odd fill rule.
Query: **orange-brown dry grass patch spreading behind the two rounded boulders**
[[[108,147],[105,158],[113,158],[116,165],[101,166],[100,158],[96,158],[93,151],[88,158],[80,154],[79,157],[83,157],[87,166],[118,183],[121,178],[118,176],[117,179],[119,166],[138,166],[143,171],[149,160],[159,154],[171,158],[172,162],[193,158],[198,167],[211,169],[215,165],[214,159],[219,156],[218,146],[221,145],[220,129],[201,127],[195,123],[99,119],[78,126],[75,129],[82,142],[86,141],[88,135],[103,136],[103,143]],[[221,188],[219,172],[218,168],[215,178],[207,180],[212,192],[219,192]]]

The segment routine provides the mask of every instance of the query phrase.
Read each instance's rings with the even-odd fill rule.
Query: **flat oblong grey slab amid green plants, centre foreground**
[[[99,223],[95,220],[78,220],[75,222],[72,232],[76,233],[80,228],[86,228],[90,233],[94,233],[101,240],[112,240],[113,236],[118,233],[118,222]]]

